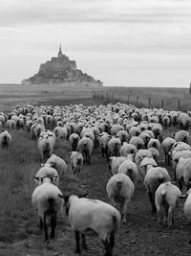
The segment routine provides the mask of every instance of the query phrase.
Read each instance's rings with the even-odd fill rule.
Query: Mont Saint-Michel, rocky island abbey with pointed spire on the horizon
[[[74,84],[85,84],[102,86],[103,82],[95,80],[92,76],[83,73],[76,68],[75,60],[69,59],[62,54],[61,45],[59,47],[57,57],[51,58],[40,65],[37,74],[27,80],[23,80],[23,84],[31,83],[64,83],[73,82]]]

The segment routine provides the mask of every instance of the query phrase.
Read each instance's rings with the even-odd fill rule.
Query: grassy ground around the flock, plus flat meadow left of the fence
[[[24,85],[26,86],[26,85]],[[23,85],[0,86],[2,101],[8,101],[1,110],[11,111],[15,105],[84,105],[99,104],[91,98],[92,88],[63,88],[45,85],[25,87]],[[46,93],[45,93],[46,91]],[[63,94],[62,94],[63,93]],[[46,96],[45,96],[45,95]],[[4,95],[4,96],[3,96]],[[17,96],[20,95],[19,98]],[[70,97],[69,97],[70,95]],[[5,101],[6,103],[6,101]],[[178,128],[164,130],[164,138],[175,133]],[[190,132],[190,130],[189,130]],[[58,222],[55,239],[44,244],[44,233],[37,227],[37,214],[32,208],[33,175],[40,168],[40,154],[37,142],[32,141],[27,130],[12,130],[12,146],[8,151],[0,151],[0,255],[18,256],[74,256],[74,234],[67,218]],[[69,143],[56,141],[53,152],[69,165]],[[159,165],[166,167],[171,176],[172,170],[164,163],[162,151]],[[91,166],[85,165],[78,181],[88,191],[88,198],[108,201],[105,187],[110,177],[108,164],[100,156],[100,149],[93,151]],[[64,180],[60,182],[62,190]],[[125,255],[191,255],[190,226],[187,225],[180,202],[172,228],[158,225],[157,216],[151,213],[149,199],[140,183],[129,204],[127,223],[122,225],[117,235],[114,256]],[[83,256],[103,255],[103,246],[96,237],[88,238],[89,250]]]

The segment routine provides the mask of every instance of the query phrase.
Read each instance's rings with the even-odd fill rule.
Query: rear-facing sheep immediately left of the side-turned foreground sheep
[[[54,238],[57,218],[63,212],[64,199],[61,191],[52,183],[45,182],[36,187],[32,193],[32,206],[38,212],[40,228],[44,228],[45,242]],[[51,236],[48,234],[47,218],[51,218]]]

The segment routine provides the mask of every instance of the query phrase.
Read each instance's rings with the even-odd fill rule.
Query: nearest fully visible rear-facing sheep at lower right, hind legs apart
[[[174,222],[174,212],[178,206],[180,196],[180,189],[171,182],[167,181],[159,185],[155,193],[155,205],[159,223],[161,222],[162,208],[164,208],[163,223],[165,225],[167,221],[168,226],[172,225],[172,222]]]

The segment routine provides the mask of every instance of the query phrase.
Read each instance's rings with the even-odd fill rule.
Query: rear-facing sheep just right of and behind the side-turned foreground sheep
[[[128,175],[113,175],[107,182],[106,191],[108,198],[115,207],[117,207],[117,203],[120,203],[120,213],[123,223],[127,221],[127,204],[132,198],[134,190],[134,183]]]

